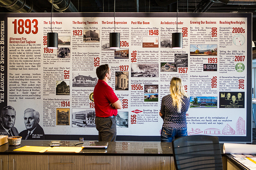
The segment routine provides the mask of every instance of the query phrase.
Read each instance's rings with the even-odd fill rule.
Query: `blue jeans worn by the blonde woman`
[[[187,136],[187,128],[164,128],[161,130],[161,142],[172,142],[173,137]]]

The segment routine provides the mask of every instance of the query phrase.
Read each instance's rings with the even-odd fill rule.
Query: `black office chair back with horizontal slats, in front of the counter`
[[[176,170],[223,170],[219,138],[192,135],[172,141]]]

